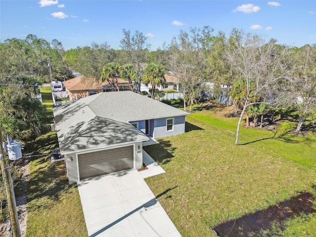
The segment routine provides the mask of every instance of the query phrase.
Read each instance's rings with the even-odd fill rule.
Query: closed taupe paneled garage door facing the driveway
[[[86,179],[133,168],[133,146],[78,155],[79,177]]]

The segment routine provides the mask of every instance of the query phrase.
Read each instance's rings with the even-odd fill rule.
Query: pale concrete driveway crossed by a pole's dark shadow
[[[141,172],[125,171],[78,183],[89,237],[181,237]]]

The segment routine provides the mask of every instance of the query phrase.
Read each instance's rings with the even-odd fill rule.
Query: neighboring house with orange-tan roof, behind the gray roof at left
[[[118,79],[120,85],[128,85],[128,82],[123,79]],[[70,100],[77,100],[82,97],[94,95],[102,91],[102,87],[107,86],[108,82],[102,83],[94,80],[83,80],[83,77],[76,77],[64,81],[66,91],[69,91]]]

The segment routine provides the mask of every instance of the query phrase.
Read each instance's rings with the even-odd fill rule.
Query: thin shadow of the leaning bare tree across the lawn
[[[239,145],[247,145],[247,144],[251,144],[251,143],[255,143],[255,142],[259,142],[259,141],[263,141],[263,140],[279,140],[282,142],[293,143],[293,144],[295,144],[295,143],[310,144],[311,142],[314,142],[314,139],[310,138],[308,136],[304,136],[304,138],[300,139],[300,140],[295,139],[298,136],[299,136],[298,134],[291,132],[291,130],[284,131],[281,134],[277,134],[277,131],[275,131],[274,135],[272,137],[266,137],[266,138],[258,139],[258,140],[251,141],[251,142],[240,143]]]

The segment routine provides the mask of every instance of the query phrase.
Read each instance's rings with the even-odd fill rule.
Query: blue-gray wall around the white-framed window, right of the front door
[[[174,118],[173,131],[167,131],[166,118],[155,119],[154,138],[168,137],[185,132],[185,116],[171,118]]]

